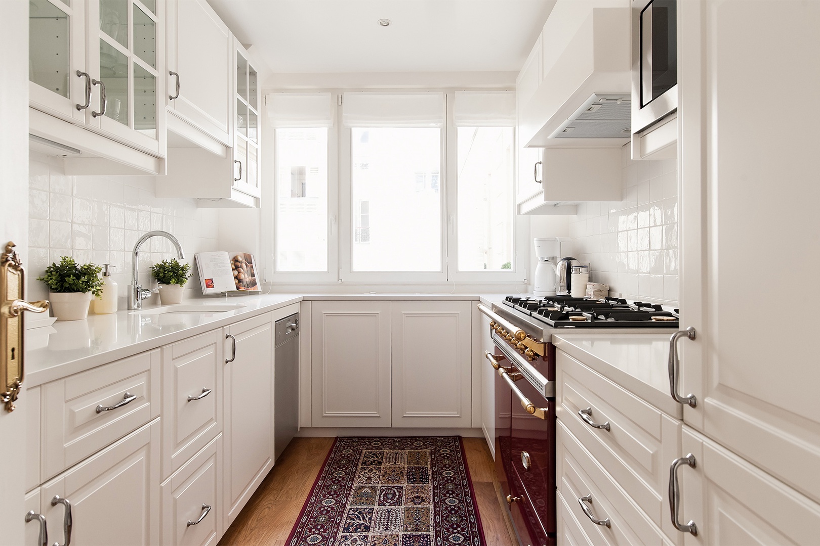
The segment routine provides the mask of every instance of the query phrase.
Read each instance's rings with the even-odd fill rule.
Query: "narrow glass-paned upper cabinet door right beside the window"
[[[234,187],[258,197],[259,103],[257,70],[244,47],[236,44],[236,133],[234,139]]]

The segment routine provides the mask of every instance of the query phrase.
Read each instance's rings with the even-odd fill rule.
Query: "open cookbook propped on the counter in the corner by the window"
[[[199,252],[196,255],[203,294],[259,292],[256,264],[247,252]]]

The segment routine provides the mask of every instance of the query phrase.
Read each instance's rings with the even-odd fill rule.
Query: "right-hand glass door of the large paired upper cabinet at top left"
[[[89,1],[89,74],[99,88],[89,124],[144,151],[164,154],[165,88],[156,0]]]

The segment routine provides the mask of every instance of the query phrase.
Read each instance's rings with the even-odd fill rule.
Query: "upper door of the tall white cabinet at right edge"
[[[784,312],[764,335],[749,320],[820,269],[820,111],[794,106],[820,88],[820,2],[679,5],[684,420],[820,502],[820,318]]]

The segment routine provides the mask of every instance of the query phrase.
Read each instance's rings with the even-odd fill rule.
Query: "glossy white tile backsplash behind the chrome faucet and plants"
[[[139,236],[151,229],[171,232],[180,240],[186,261],[194,254],[217,249],[219,214],[198,209],[192,199],[154,196],[151,176],[66,176],[44,156],[32,154],[29,165],[29,298],[48,296],[36,280],[61,256],[78,263],[112,264],[120,295],[120,309],[131,279],[131,250]],[[148,241],[139,256],[140,281],[155,283],[151,264],[176,256],[171,243],[159,237]],[[195,268],[194,268],[195,269]],[[186,288],[198,290],[191,278]]]

